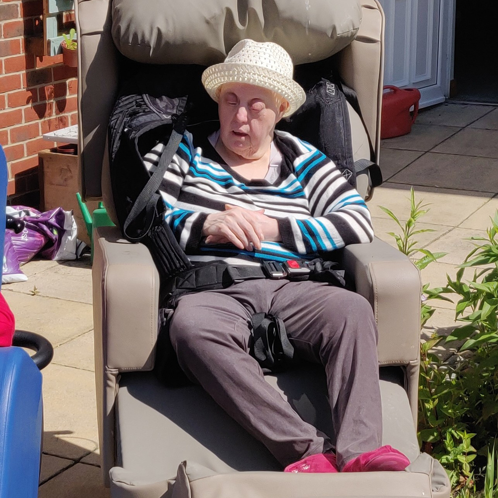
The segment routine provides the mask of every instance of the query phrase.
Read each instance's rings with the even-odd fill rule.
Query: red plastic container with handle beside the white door
[[[420,92],[416,88],[398,88],[386,85],[389,90],[382,95],[382,116],[380,120],[380,138],[392,138],[406,135],[418,114]],[[413,111],[410,113],[410,108]]]

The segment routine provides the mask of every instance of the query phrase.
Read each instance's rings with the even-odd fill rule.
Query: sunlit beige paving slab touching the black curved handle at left
[[[54,347],[93,329],[89,304],[5,289],[2,286],[2,294],[14,313],[16,328],[41,334]]]

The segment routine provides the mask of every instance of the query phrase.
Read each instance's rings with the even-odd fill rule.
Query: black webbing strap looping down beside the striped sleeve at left
[[[169,136],[168,143],[161,154],[157,168],[149,178],[145,187],[136,198],[133,206],[124,222],[123,233],[126,239],[132,242],[140,241],[150,230],[154,222],[154,215],[157,203],[160,199],[157,189],[171,163],[175,152],[177,151],[187,125],[187,114],[183,112],[180,116],[173,118],[173,129]],[[145,209],[145,224],[143,230],[136,234],[128,233],[128,227]]]

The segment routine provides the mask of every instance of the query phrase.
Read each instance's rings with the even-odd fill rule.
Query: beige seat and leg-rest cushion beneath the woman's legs
[[[266,379],[304,420],[332,434],[320,369],[307,367]],[[413,461],[419,454],[413,418],[405,390],[393,380],[380,381],[383,444]],[[216,473],[281,470],[268,450],[199,386],[168,388],[151,373],[123,373],[117,403],[118,465],[126,471],[170,479],[185,460]]]

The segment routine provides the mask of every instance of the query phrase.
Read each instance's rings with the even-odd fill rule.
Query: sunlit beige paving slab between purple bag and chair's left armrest
[[[41,296],[92,304],[92,267],[87,262],[65,261],[9,288],[30,294],[34,286]]]

